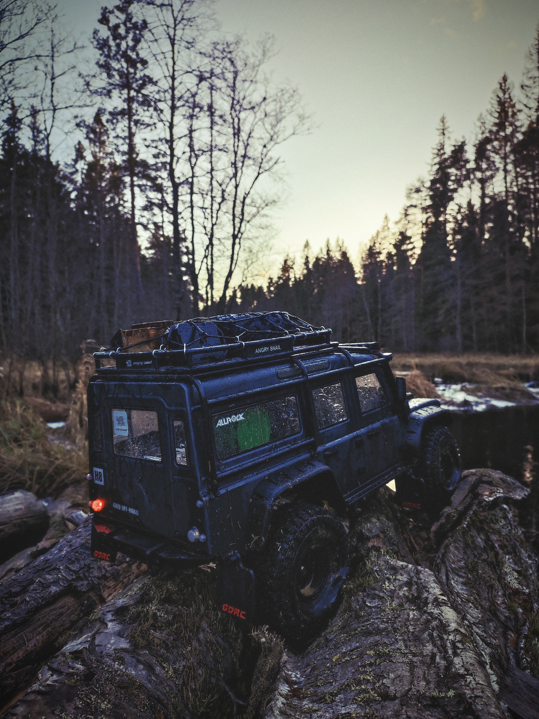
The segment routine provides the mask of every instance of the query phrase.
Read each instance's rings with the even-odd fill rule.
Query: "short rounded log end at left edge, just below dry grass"
[[[32,492],[17,490],[0,497],[0,564],[37,544],[49,528],[47,508]]]

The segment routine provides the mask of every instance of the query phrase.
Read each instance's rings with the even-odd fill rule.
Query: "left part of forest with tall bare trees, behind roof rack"
[[[226,311],[280,145],[308,130],[272,45],[221,37],[206,0],[104,6],[86,48],[54,8],[0,0],[4,356],[56,365],[133,322]]]

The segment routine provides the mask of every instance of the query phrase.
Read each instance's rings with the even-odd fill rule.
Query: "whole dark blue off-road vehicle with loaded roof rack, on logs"
[[[392,479],[417,485],[418,468],[432,475],[430,495],[450,493],[458,481],[458,449],[443,429],[450,413],[438,400],[410,398],[390,369],[392,355],[376,343],[331,342],[331,330],[287,313],[156,325],[161,334],[147,334],[140,347],[94,355],[94,556],[121,551],[152,570],[221,558],[230,567],[221,605],[243,618],[254,610],[254,577],[259,597],[267,596],[261,587],[275,587],[283,541],[295,541],[303,554],[282,561],[298,583],[303,614],[294,626],[308,628],[346,574],[341,519],[350,505]],[[316,578],[324,563],[316,546],[331,549],[328,533],[337,558],[323,570],[331,576]]]

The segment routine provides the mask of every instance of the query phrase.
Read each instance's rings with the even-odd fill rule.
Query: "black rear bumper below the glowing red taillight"
[[[92,554],[94,545],[101,552],[96,556],[102,559],[106,559],[103,556],[106,554],[115,558],[116,552],[121,551],[127,557],[139,559],[148,565],[180,564],[195,567],[210,561],[208,554],[196,554],[166,540],[134,532],[95,516],[92,517]]]

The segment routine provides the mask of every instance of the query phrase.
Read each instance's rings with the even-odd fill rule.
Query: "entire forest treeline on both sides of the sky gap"
[[[519,91],[500,79],[473,142],[441,119],[430,175],[355,266],[307,243],[262,284],[280,146],[309,127],[267,79],[271,41],[221,37],[204,0],[96,22],[85,50],[53,8],[0,0],[4,358],[56,366],[132,322],[269,309],[395,351],[539,349],[539,27]]]

